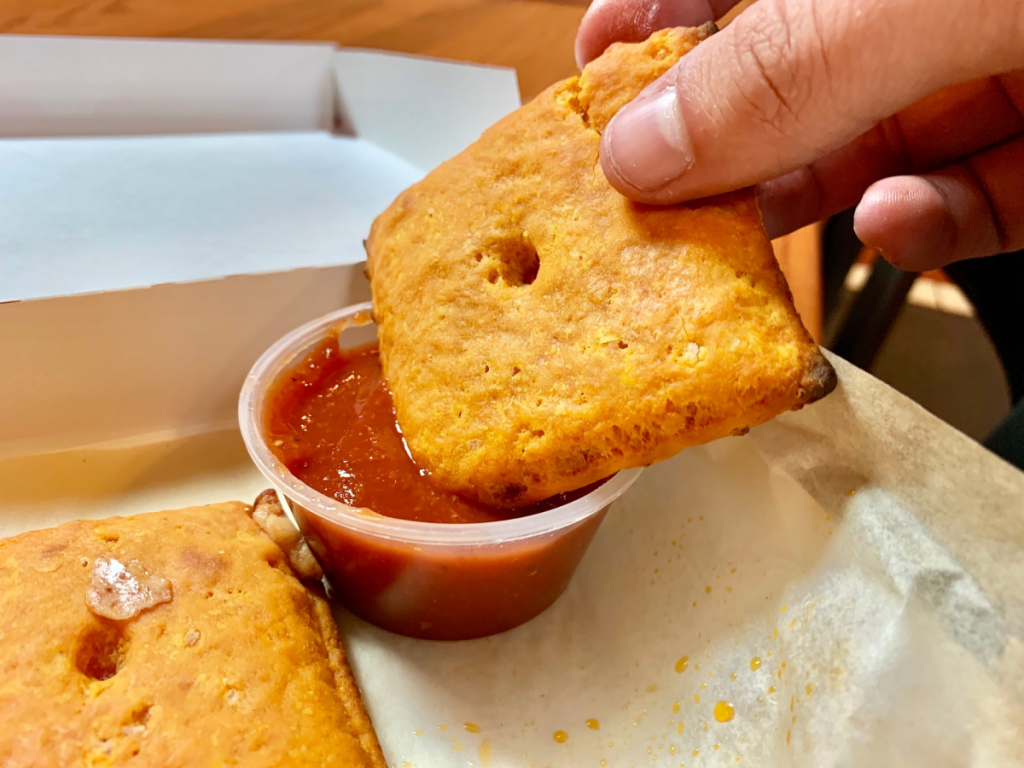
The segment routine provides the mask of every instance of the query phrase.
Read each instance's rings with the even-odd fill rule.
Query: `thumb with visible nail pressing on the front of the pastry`
[[[800,168],[950,83],[1019,67],[1018,5],[760,0],[612,119],[605,175],[664,204]]]

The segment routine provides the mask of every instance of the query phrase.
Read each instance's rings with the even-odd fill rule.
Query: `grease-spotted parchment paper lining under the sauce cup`
[[[822,402],[646,470],[519,629],[339,608],[390,765],[1024,765],[1024,474],[836,365]],[[234,433],[6,459],[0,535],[262,485]]]

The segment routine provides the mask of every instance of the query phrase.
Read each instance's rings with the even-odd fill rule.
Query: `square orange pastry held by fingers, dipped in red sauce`
[[[611,117],[712,32],[611,46],[374,222],[384,374],[440,485],[524,505],[835,387],[751,191],[648,207],[601,171]]]

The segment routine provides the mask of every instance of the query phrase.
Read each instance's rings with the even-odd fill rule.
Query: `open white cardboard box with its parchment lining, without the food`
[[[249,367],[365,299],[373,216],[517,103],[324,45],[0,37],[0,536],[253,498]],[[645,471],[521,628],[339,611],[389,763],[1024,763],[1024,475],[837,368]]]

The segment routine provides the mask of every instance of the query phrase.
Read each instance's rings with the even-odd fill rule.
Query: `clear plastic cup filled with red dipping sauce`
[[[250,455],[356,615],[431,640],[517,627],[562,594],[639,472],[517,510],[435,487],[395,424],[376,345],[352,344],[372,323],[369,305],[346,307],[260,358],[240,402]],[[562,506],[577,497],[579,507]]]

